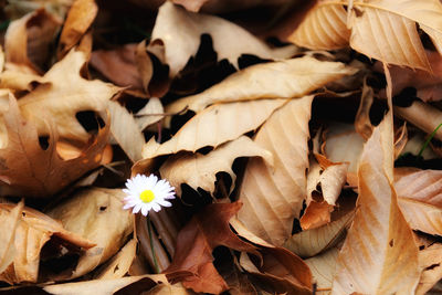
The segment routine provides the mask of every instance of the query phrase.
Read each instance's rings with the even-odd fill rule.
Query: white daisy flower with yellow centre
[[[150,175],[136,175],[126,182],[127,189],[123,191],[127,194],[123,209],[134,208],[133,213],[138,213],[147,217],[149,211],[155,212],[161,210],[162,207],[171,207],[168,199],[175,199],[175,188],[165,180],[158,180],[158,177]]]

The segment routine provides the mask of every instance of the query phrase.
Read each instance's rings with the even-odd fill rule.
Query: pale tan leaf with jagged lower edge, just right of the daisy
[[[167,179],[181,196],[181,183],[187,183],[194,190],[201,188],[210,193],[214,191],[218,172],[228,172],[232,178],[234,188],[236,179],[232,164],[239,157],[262,157],[270,166],[273,165],[273,155],[253,143],[249,137],[240,138],[223,144],[208,155],[178,154],[169,157],[159,169],[162,178]]]

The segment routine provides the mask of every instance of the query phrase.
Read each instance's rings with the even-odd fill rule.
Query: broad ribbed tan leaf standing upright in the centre
[[[293,219],[306,198],[308,120],[313,96],[288,101],[257,131],[254,141],[271,151],[274,167],[252,158],[240,190],[238,219],[275,245],[292,235]]]

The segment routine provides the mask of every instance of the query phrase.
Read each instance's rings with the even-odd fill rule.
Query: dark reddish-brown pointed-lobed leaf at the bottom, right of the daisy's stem
[[[180,231],[172,264],[164,272],[167,278],[182,282],[194,292],[219,294],[228,289],[212,261],[212,251],[224,245],[257,254],[255,247],[240,240],[229,228],[229,220],[240,210],[240,202],[209,204],[193,215]]]

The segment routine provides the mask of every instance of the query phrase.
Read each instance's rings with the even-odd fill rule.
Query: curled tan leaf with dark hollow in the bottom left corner
[[[0,204],[0,215],[11,214],[13,210],[12,204]],[[36,210],[23,208],[20,214],[18,226],[10,229],[15,231],[12,264],[9,264],[8,268],[0,274],[0,281],[9,284],[35,283],[40,274],[53,271],[48,267],[39,270],[41,260],[52,255],[63,257],[63,255],[82,253],[82,249],[91,249],[95,245],[92,241],[65,230],[59,221]],[[49,249],[52,253],[49,253],[48,249],[44,253],[42,252],[45,244],[51,245]]]

